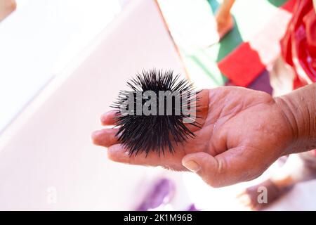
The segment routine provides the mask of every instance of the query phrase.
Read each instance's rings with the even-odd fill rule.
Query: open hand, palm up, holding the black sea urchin
[[[301,92],[315,94],[316,86]],[[112,128],[93,132],[93,143],[107,147],[108,158],[115,162],[162,166],[177,171],[189,168],[207,184],[221,187],[260,176],[277,158],[297,152],[298,146],[303,146],[300,141],[306,141],[302,128],[306,126],[295,127],[294,124],[298,124],[300,116],[308,115],[292,118],[289,111],[293,110],[287,104],[287,98],[301,99],[299,91],[294,97],[272,98],[262,91],[220,87],[203,90],[199,97],[202,129],[192,128],[196,138],[178,146],[175,144],[176,153],[173,155],[166,153],[159,157],[150,153],[145,158],[143,153],[130,157],[115,137],[117,129]],[[113,125],[114,112],[105,113],[101,122]],[[313,144],[308,143],[304,150],[312,147]]]

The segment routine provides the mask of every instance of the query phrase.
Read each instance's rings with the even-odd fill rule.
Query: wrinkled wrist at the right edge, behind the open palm
[[[316,84],[275,98],[291,127],[292,141],[286,154],[316,148]]]

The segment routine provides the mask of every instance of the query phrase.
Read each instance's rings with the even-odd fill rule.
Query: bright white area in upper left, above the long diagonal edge
[[[119,13],[117,0],[18,0],[0,23],[0,132]]]

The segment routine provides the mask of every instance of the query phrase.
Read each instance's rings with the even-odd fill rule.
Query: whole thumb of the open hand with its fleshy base
[[[183,157],[182,165],[217,188],[260,176],[277,159],[266,154],[257,148],[239,146],[216,157],[207,153],[191,153]]]

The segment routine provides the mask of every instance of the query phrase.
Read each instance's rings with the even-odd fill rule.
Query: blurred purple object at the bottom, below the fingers
[[[137,211],[147,211],[166,205],[170,202],[175,191],[175,185],[169,179],[159,179],[152,190],[148,193],[143,203],[136,208]]]

